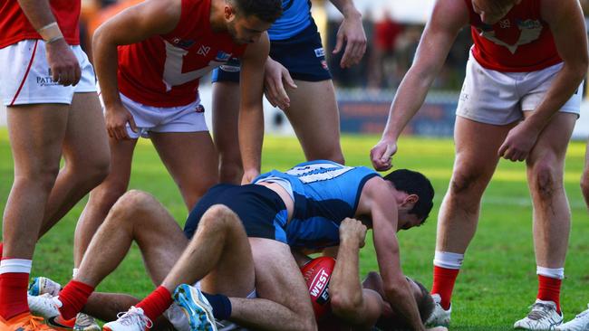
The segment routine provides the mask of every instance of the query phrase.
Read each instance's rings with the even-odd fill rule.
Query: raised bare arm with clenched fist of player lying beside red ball
[[[362,289],[359,252],[364,246],[366,226],[347,218],[340,224],[338,259],[329,282],[333,313],[354,329],[370,329],[382,311],[382,298]]]

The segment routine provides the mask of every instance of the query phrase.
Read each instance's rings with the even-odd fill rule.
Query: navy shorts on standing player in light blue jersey
[[[312,23],[294,37],[270,42],[270,57],[280,62],[294,80],[331,80],[317,26]],[[213,71],[212,81],[239,82],[239,60],[231,59]]]

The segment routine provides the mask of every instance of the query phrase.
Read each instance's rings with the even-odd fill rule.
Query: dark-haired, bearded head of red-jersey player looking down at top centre
[[[227,31],[236,43],[255,43],[282,14],[281,0],[225,0]]]

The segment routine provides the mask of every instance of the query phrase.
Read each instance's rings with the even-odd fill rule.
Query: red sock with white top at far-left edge
[[[29,311],[26,289],[32,260],[6,259],[0,262],[0,317],[8,320]]]

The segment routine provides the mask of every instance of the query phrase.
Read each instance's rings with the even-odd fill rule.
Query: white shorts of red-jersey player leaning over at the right
[[[494,125],[520,120],[523,111],[533,111],[542,102],[562,67],[563,63],[558,63],[540,71],[493,71],[483,68],[471,55],[456,115]],[[582,94],[583,82],[559,111],[578,116]]]

